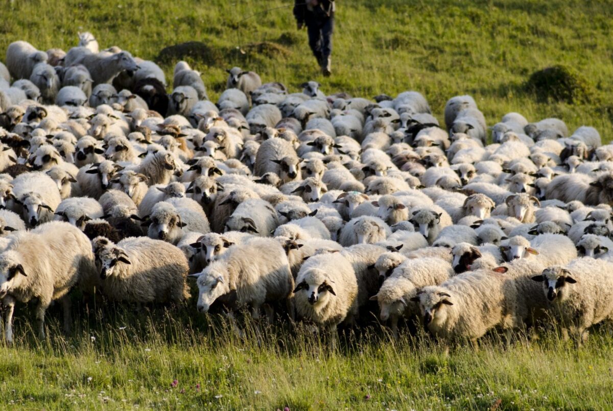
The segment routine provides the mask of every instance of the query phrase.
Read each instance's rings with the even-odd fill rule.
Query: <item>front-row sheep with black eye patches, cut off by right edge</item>
[[[548,267],[543,274],[532,278],[542,282],[543,293],[560,320],[563,337],[568,339],[571,331],[579,347],[588,337],[587,328],[604,319],[613,319],[610,272],[608,262],[585,257],[568,265]]]

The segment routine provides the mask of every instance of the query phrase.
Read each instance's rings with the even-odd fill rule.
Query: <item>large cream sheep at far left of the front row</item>
[[[70,332],[67,292],[80,279],[95,275],[96,265],[88,238],[74,226],[53,222],[14,234],[0,254],[0,298],[6,306],[4,333],[13,342],[15,302],[38,299],[36,330],[45,338],[45,311],[54,300],[64,307],[64,331]]]

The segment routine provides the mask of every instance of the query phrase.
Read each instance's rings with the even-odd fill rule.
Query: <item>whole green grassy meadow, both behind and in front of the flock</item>
[[[118,45],[158,62],[169,83],[173,64],[186,59],[213,100],[224,70],[240,65],[291,91],[306,80],[360,97],[413,89],[440,120],[447,98],[471,94],[489,124],[518,111],[529,120],[560,117],[571,130],[593,125],[603,141],[613,136],[613,1],[338,0],[330,78],[316,70],[291,4],[5,0],[0,59],[15,40],[68,50],[78,31],[91,31],[101,48]],[[185,42],[199,43],[175,46]],[[531,73],[555,64],[584,80],[581,102],[525,86]],[[72,335],[61,334],[52,307],[48,337],[38,341],[31,309],[18,305],[15,346],[0,342],[0,409],[613,408],[609,326],[579,352],[547,331],[508,348],[490,336],[478,352],[460,347],[445,357],[422,333],[396,342],[378,327],[343,336],[337,350],[283,324],[261,335],[249,328],[238,339],[194,306],[88,311],[75,296]]]

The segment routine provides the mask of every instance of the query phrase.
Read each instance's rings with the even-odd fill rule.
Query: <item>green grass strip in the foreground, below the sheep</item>
[[[489,409],[498,400],[510,410],[613,407],[606,327],[579,352],[548,331],[508,349],[492,335],[477,352],[460,347],[445,357],[423,333],[393,341],[375,328],[343,336],[337,350],[286,325],[258,337],[249,324],[240,339],[192,308],[140,316],[106,309],[107,319],[83,318],[64,338],[58,311],[48,315],[46,341],[32,336],[20,311],[15,347],[0,346],[0,408]]]

